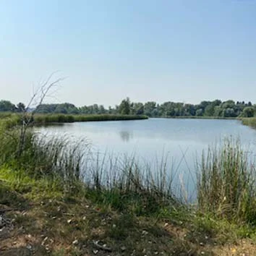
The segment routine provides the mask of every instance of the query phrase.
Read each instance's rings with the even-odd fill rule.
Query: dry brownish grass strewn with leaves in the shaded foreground
[[[184,226],[171,218],[136,216],[97,205],[87,197],[46,192],[17,192],[5,184],[10,201],[4,213],[14,229],[0,239],[0,255],[200,255],[202,247],[189,242]],[[25,189],[22,189],[25,191]],[[2,201],[0,209],[7,207]],[[99,241],[95,244],[95,241]],[[106,244],[106,248],[103,247]]]

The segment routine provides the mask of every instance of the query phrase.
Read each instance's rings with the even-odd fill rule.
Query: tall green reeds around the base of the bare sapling
[[[80,182],[80,171],[89,151],[86,140],[70,140],[67,136],[43,137],[27,129],[22,154],[17,155],[20,128],[0,126],[0,165],[17,173],[24,171],[37,179],[58,179],[63,184]]]

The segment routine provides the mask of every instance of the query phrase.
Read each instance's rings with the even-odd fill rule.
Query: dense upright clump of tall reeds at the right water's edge
[[[256,223],[256,171],[239,142],[225,140],[202,155],[197,175],[198,208],[235,221]]]

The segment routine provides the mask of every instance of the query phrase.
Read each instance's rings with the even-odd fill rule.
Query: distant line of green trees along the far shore
[[[22,112],[25,104],[14,105],[10,101],[0,101],[0,111]],[[147,116],[218,116],[218,117],[252,117],[256,116],[256,105],[244,101],[202,101],[200,104],[189,104],[168,101],[158,104],[155,101],[147,103],[131,102],[125,98],[115,107],[104,108],[103,105],[77,107],[71,103],[42,104],[35,109],[41,114],[135,114]]]

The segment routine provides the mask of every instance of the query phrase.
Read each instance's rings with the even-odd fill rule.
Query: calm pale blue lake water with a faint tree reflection
[[[249,153],[256,153],[256,131],[236,120],[148,119],[136,121],[77,122],[41,127],[43,134],[84,137],[95,152],[136,155],[143,163],[155,163],[164,155],[176,182],[195,189],[195,162],[202,150],[225,137],[239,138]]]

